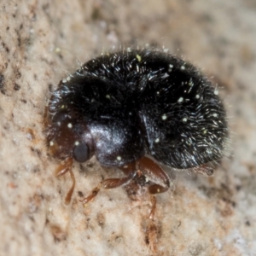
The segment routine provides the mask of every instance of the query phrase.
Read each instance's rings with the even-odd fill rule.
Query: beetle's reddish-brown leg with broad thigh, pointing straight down
[[[145,156],[137,160],[137,169],[153,183],[148,187],[152,203],[148,218],[154,219],[156,209],[156,198],[154,195],[166,192],[170,188],[170,179],[159,165]]]

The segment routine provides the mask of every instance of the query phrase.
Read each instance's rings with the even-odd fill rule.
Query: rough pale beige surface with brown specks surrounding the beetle
[[[0,255],[256,255],[256,4],[236,1],[7,1],[0,3]],[[104,49],[154,44],[183,56],[223,87],[230,159],[213,177],[178,172],[150,201],[95,158],[67,174],[44,146],[44,107],[60,79]],[[172,172],[168,172],[172,175]],[[127,193],[128,192],[128,193]]]

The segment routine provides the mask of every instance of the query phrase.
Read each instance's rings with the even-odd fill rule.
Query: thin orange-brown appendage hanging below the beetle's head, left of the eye
[[[70,177],[72,178],[73,184],[72,187],[69,189],[69,191],[67,192],[66,198],[65,198],[65,203],[68,205],[71,201],[71,197],[73,195],[73,189],[75,187],[75,177],[73,175],[73,171],[72,171],[72,165],[73,165],[73,158],[72,157],[68,157],[66,160],[64,160],[64,162],[57,167],[57,169],[55,170],[55,175],[56,177],[60,177],[62,175],[64,175],[65,173],[69,172],[70,173]]]

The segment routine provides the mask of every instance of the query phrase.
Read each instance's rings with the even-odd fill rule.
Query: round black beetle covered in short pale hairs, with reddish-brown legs
[[[103,180],[84,203],[138,170],[152,182],[151,194],[166,191],[169,177],[154,160],[210,175],[205,164],[223,156],[228,140],[218,89],[191,64],[157,49],[124,49],[86,62],[61,80],[47,110],[49,152],[64,160],[58,175],[73,177],[73,159],[92,155],[126,175]]]

